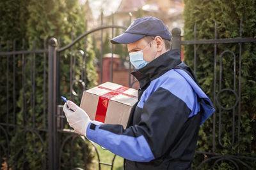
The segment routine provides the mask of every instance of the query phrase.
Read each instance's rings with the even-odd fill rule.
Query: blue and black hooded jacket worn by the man
[[[92,121],[88,139],[124,157],[125,169],[191,169],[198,129],[214,112],[178,50],[132,73],[140,82],[127,129]]]

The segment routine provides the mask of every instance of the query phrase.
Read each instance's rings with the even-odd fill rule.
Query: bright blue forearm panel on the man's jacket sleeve
[[[96,125],[93,129],[91,124]],[[99,129],[100,124],[92,121],[87,128],[86,137],[110,152],[128,160],[137,162],[149,162],[155,159],[144,136],[127,136]]]

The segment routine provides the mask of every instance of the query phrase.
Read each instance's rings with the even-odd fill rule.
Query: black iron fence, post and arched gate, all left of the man
[[[16,43],[10,44],[10,41],[6,43],[5,52],[0,49],[0,59],[6,63],[5,74],[1,83],[6,87],[6,101],[1,102],[1,104],[6,104],[6,111],[1,113],[0,119],[0,164],[3,169],[17,169],[18,167],[22,169],[28,169],[26,163],[28,163],[28,158],[26,158],[26,137],[35,134],[36,139],[33,141],[33,152],[35,155],[40,157],[42,169],[61,169],[61,155],[68,141],[71,141],[70,150],[70,169],[79,169],[81,167],[86,167],[86,145],[92,145],[95,148],[96,160],[98,161],[98,168],[101,169],[102,165],[109,166],[113,169],[114,161],[116,155],[113,155],[113,159],[110,163],[102,162],[100,158],[99,151],[94,143],[88,141],[88,139],[83,136],[79,136],[71,129],[65,129],[65,116],[63,114],[63,105],[60,103],[60,60],[63,57],[63,53],[70,55],[70,96],[68,99],[74,99],[76,97],[81,97],[74,90],[74,83],[81,83],[82,89],[86,89],[86,48],[87,48],[87,37],[93,32],[100,32],[101,41],[101,51],[100,51],[100,83],[102,82],[102,59],[103,59],[103,31],[104,29],[111,29],[112,37],[114,29],[126,29],[124,26],[114,25],[114,16],[112,15],[112,25],[103,25],[103,15],[101,15],[101,26],[90,31],[85,31],[84,34],[77,37],[72,42],[66,46],[61,47],[58,45],[58,41],[55,38],[49,39],[48,48],[47,41],[44,39],[44,49],[37,50],[26,50],[25,40],[22,40],[22,50],[16,51]],[[130,16],[131,21],[131,16]],[[86,28],[87,29],[87,28]],[[75,49],[77,43],[82,44],[83,41],[84,48]],[[60,42],[59,42],[60,43]],[[2,45],[2,43],[0,43]],[[34,41],[34,47],[36,46]],[[10,50],[13,48],[13,50]],[[111,81],[113,80],[113,46],[111,46],[112,60],[111,60]],[[12,61],[10,60],[12,57]],[[37,60],[40,57],[44,57],[43,71],[41,74],[36,73],[38,69]],[[82,58],[82,66],[80,68],[76,67],[77,58]],[[19,63],[17,63],[17,61]],[[12,63],[12,68],[10,64]],[[17,66],[19,65],[19,66]],[[19,67],[19,69],[17,69]],[[81,75],[79,75],[79,80],[76,78],[76,69],[81,69]],[[131,73],[131,65],[130,71]],[[15,75],[21,76],[21,80],[16,80]],[[17,76],[16,76],[17,77]],[[29,78],[28,78],[29,77]],[[38,115],[36,115],[36,78],[42,78],[42,112],[43,116],[40,120],[36,120]],[[134,79],[133,79],[134,80]],[[18,82],[19,81],[19,82]],[[129,78],[129,84],[132,85],[132,78]],[[17,89],[21,91],[22,101],[19,102],[19,111],[22,111],[22,117],[17,118],[17,113],[19,111],[15,110],[17,108]],[[12,92],[11,92],[12,91]],[[12,94],[12,97],[10,97]],[[28,96],[29,95],[29,96]],[[10,101],[12,100],[12,101]],[[12,103],[12,104],[10,104]],[[29,106],[28,106],[29,103]],[[12,109],[9,109],[12,108]],[[10,110],[12,115],[10,116]],[[31,120],[28,120],[31,117]],[[20,122],[21,121],[21,122]],[[38,123],[40,121],[40,125]],[[11,130],[10,130],[11,129]],[[12,137],[19,131],[19,134]],[[65,138],[61,138],[61,134],[66,134]],[[12,140],[15,140],[12,145],[10,145]],[[18,141],[22,140],[22,145],[18,146]],[[77,167],[74,163],[73,156],[75,151],[73,150],[73,145],[76,140],[82,140],[84,149],[80,150],[84,154],[83,166]],[[43,146],[42,152],[37,152],[36,143],[40,141]],[[88,142],[86,142],[88,141]],[[14,154],[14,159],[10,160],[10,155]],[[40,155],[42,154],[42,155]],[[21,157],[20,157],[21,156]],[[18,162],[18,160],[20,160]],[[31,162],[29,162],[31,163]],[[18,165],[19,164],[19,165]],[[22,164],[20,166],[20,164]],[[66,168],[67,169],[67,168]]]

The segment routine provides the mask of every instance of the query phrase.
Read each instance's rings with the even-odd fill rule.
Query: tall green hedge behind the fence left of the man
[[[86,10],[83,6],[78,5],[78,0],[8,0],[0,1],[0,7],[1,52],[13,50],[14,39],[16,41],[14,50],[47,49],[46,39],[51,37],[58,38],[60,46],[65,46],[72,41],[71,34],[76,38],[85,30]],[[10,39],[9,48],[6,43],[8,39]],[[22,39],[28,43],[23,45]],[[86,88],[88,89],[97,85],[97,73],[93,66],[95,53],[90,45],[92,43],[90,39],[88,39],[85,49],[83,42],[77,43],[72,48],[74,52],[77,49],[86,50],[86,66],[82,65],[83,57],[77,56],[76,67],[73,66],[73,71],[74,79],[80,80],[82,79],[81,68],[86,69],[86,78],[83,77],[83,80],[86,79]],[[70,94],[70,58],[74,59],[74,52],[70,53],[70,51],[72,50],[68,49],[60,53],[60,91],[67,97]],[[47,139],[49,137],[47,132],[34,129],[47,130],[47,60],[47,54],[44,56],[43,53],[36,53],[35,58],[31,54],[0,57],[0,71],[3,73],[0,79],[0,93],[4,94],[0,101],[0,122],[18,125],[16,128],[8,129],[10,132],[8,138],[4,133],[6,129],[5,131],[0,129],[1,144],[4,148],[10,148],[8,164],[12,169],[15,167],[17,169],[24,167],[26,169],[43,169],[44,162],[46,165],[48,162]],[[44,77],[44,72],[46,77]],[[35,74],[35,80],[33,74]],[[44,79],[46,80],[45,84]],[[33,95],[33,88],[35,95]],[[81,96],[72,97],[79,104]],[[65,127],[68,125],[66,124]],[[60,136],[60,143],[66,137],[65,134]],[[91,146],[87,145],[89,142],[86,141],[86,145],[84,145],[83,139],[76,138],[74,141],[68,140],[65,145],[70,146],[71,143],[76,152],[73,155],[74,167],[83,167],[84,157],[86,157],[87,167],[90,167],[93,152]],[[0,150],[1,159],[6,160],[8,150],[6,152],[2,152],[3,148]],[[66,169],[71,164],[70,154],[70,148],[67,147],[63,150],[61,164],[64,162],[66,166],[68,164]],[[65,161],[62,161],[63,158]],[[61,166],[63,167],[63,165]]]

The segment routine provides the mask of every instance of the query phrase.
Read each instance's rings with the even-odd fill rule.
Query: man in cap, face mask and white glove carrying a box
[[[64,106],[75,132],[124,157],[125,169],[191,169],[199,126],[214,112],[170,41],[166,26],[154,17],[134,20],[111,39],[127,44],[132,74],[140,82],[127,129],[92,121],[71,101]]]

